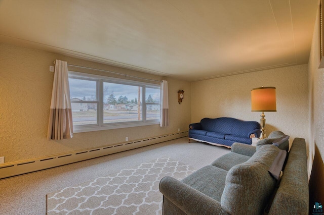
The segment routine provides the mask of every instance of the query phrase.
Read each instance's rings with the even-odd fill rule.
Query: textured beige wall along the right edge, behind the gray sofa
[[[309,167],[311,168],[315,144],[324,158],[324,69],[319,65],[318,16],[313,33],[312,47],[308,62],[309,70]]]

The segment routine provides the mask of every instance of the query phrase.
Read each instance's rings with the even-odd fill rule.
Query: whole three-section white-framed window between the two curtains
[[[158,124],[160,86],[69,72],[74,132]]]

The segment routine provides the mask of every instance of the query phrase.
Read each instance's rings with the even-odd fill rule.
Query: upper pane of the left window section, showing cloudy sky
[[[77,98],[83,101],[97,101],[97,82],[69,78],[71,101]]]

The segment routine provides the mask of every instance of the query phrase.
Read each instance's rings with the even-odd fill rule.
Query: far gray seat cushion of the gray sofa
[[[229,171],[235,165],[244,163],[248,159],[250,159],[250,156],[229,152],[214,160],[211,165]]]

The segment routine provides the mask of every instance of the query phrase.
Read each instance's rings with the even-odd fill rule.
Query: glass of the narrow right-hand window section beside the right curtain
[[[146,120],[158,120],[160,118],[160,89],[146,87]]]

